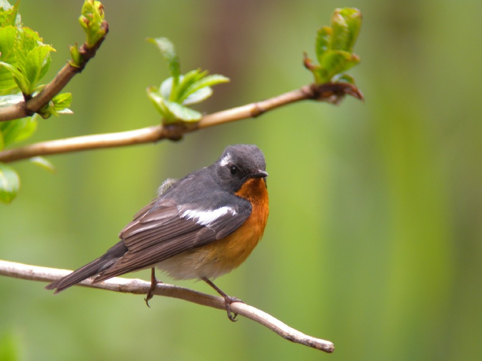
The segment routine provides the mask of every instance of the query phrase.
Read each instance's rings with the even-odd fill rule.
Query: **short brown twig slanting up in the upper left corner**
[[[87,62],[95,56],[97,49],[104,42],[107,32],[109,31],[109,25],[107,21],[102,23],[102,27],[106,31],[105,35],[99,39],[99,41],[93,46],[89,47],[84,43],[79,48],[79,54],[82,56],[82,62],[78,65],[74,65],[71,61],[68,61],[60,71],[57,73],[54,79],[50,83],[46,84],[44,88],[31,98],[27,98],[17,104],[0,107],[0,122],[9,120],[25,118],[32,116],[39,112],[45,105],[49,103],[52,98],[57,95],[67,84],[74,78],[74,76],[80,73]]]

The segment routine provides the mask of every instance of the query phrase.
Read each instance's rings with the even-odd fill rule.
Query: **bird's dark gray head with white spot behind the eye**
[[[231,193],[238,191],[250,178],[264,178],[268,175],[263,153],[252,145],[226,147],[213,166],[216,167],[219,182]]]

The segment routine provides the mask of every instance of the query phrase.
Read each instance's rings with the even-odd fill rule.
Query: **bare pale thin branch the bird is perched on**
[[[0,260],[0,275],[14,278],[21,278],[33,281],[51,282],[59,277],[65,276],[72,271],[61,270],[56,268],[47,268],[39,266],[25,265],[22,263],[9,262]],[[141,279],[127,279],[114,277],[104,282],[92,284],[90,280],[79,283],[81,286],[101,288],[122,293],[130,293],[135,295],[145,295],[149,291],[150,282]],[[212,296],[190,290],[189,288],[180,287],[172,284],[159,283],[153,292],[154,295],[179,298],[185,301],[197,303],[199,305],[226,310],[224,299],[219,296]],[[144,302],[143,302],[144,303]],[[245,303],[235,302],[231,304],[231,311],[238,315],[263,324],[270,330],[276,332],[283,338],[300,343],[305,346],[313,347],[325,352],[333,352],[334,346],[330,341],[325,341],[312,336],[305,335],[289,326],[273,316],[254,308]]]

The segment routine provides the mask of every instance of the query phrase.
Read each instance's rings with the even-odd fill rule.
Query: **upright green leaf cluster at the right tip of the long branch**
[[[354,84],[345,71],[360,62],[353,53],[353,47],[360,32],[362,15],[358,9],[335,9],[331,16],[331,26],[318,30],[316,55],[319,65],[313,64],[305,55],[305,66],[312,71],[316,84],[347,81]]]

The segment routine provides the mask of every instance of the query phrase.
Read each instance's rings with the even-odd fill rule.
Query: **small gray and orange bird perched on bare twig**
[[[119,233],[120,241],[85,266],[45,288],[59,293],[93,277],[101,282],[125,273],[151,268],[149,306],[157,283],[157,267],[173,279],[199,279],[230,304],[212,279],[241,265],[256,247],[268,219],[266,162],[255,145],[227,146],[208,167],[185,177],[167,179],[158,195],[137,212]]]

